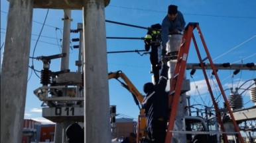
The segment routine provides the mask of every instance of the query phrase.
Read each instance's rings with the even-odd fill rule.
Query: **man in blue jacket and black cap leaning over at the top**
[[[168,14],[162,20],[162,55],[166,54],[166,43],[168,42],[168,35],[183,32],[185,24],[186,22],[184,20],[183,14],[178,11],[178,7],[176,5],[169,5]]]

